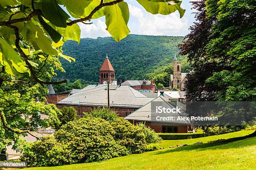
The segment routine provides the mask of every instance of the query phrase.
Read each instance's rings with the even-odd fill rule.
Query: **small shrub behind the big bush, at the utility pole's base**
[[[90,113],[83,112],[84,117],[100,117],[109,122],[113,122],[118,116],[116,112],[110,110],[107,107],[97,107],[96,109],[92,109]]]

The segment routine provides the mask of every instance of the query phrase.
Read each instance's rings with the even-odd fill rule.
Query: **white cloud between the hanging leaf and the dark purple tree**
[[[188,30],[188,21],[186,18],[179,18],[179,13],[175,12],[169,15],[152,15],[143,13],[143,10],[136,6],[128,5],[131,16],[136,21],[132,26],[136,26],[136,34],[142,35],[186,35]]]

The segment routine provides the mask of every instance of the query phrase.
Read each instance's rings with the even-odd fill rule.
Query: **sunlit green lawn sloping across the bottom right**
[[[163,146],[207,142],[220,138],[248,135],[253,130],[189,140],[165,140]],[[255,170],[256,137],[232,143],[203,143],[128,155],[96,163],[59,167],[28,168],[33,170]]]

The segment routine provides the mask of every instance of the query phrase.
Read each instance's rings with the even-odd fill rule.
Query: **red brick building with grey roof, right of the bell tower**
[[[121,82],[120,82],[121,83]],[[155,82],[151,80],[125,80],[121,85],[128,85],[138,92],[142,93],[155,93]]]

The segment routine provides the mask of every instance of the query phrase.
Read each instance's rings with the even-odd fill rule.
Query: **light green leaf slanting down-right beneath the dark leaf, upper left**
[[[26,39],[32,43],[35,50],[43,50],[49,55],[58,55],[58,51],[51,45],[49,37],[44,35],[44,32],[32,23],[28,21],[26,23],[28,29]]]

